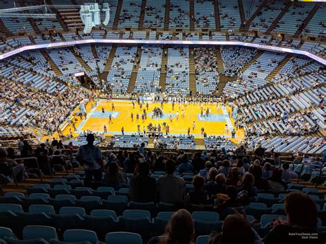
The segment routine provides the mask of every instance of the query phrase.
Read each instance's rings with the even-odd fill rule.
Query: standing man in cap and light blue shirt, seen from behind
[[[95,137],[87,135],[87,144],[80,146],[76,159],[85,167],[85,184],[90,181],[102,181],[102,169],[104,167],[102,153],[98,146],[94,146]]]

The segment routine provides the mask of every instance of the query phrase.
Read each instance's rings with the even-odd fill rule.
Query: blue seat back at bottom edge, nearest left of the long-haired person
[[[105,236],[106,244],[142,244],[140,234],[131,232],[111,232]]]

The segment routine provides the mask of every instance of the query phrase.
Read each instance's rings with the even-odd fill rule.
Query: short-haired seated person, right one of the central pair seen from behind
[[[174,175],[175,161],[173,159],[166,161],[165,172],[166,175],[160,176],[157,180],[160,201],[164,203],[180,203],[186,182],[184,178]]]

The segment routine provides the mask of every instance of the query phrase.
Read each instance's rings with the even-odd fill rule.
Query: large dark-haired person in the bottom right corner
[[[263,239],[265,244],[325,243],[325,233],[318,234],[316,231],[318,223],[316,203],[308,195],[303,192],[287,194],[284,209],[286,220],[276,219],[272,223],[272,230]],[[316,238],[307,240],[303,236]]]

